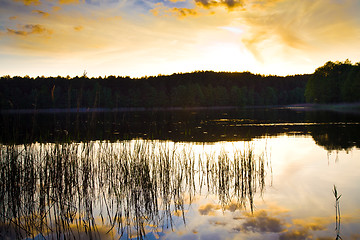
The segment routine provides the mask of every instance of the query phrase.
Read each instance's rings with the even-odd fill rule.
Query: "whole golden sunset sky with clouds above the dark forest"
[[[359,0],[0,0],[0,76],[312,73],[360,61]]]

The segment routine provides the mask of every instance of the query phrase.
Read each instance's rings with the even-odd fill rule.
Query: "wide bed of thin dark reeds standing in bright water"
[[[1,145],[0,236],[138,238],[186,224],[198,194],[254,209],[266,154],[133,140]]]

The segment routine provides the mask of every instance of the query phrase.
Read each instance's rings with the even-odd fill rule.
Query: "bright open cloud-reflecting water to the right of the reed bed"
[[[266,149],[271,162],[265,192],[255,196],[254,213],[234,202],[221,206],[215,195],[198,196],[185,213],[186,225],[166,231],[165,239],[335,239],[334,185],[342,194],[341,236],[360,238],[358,149],[328,152],[309,137],[252,144],[256,151]],[[230,149],[244,143],[215,145],[212,149]]]

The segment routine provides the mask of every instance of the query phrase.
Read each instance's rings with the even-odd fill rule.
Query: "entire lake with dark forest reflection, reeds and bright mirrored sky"
[[[360,239],[358,113],[1,116],[1,239]]]

